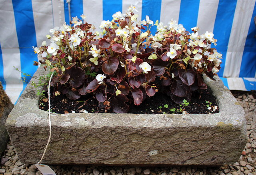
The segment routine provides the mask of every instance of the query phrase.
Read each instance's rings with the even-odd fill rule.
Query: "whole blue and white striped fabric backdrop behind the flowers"
[[[229,89],[256,89],[256,0],[71,0],[71,16],[87,15],[96,26],[111,20],[133,4],[139,18],[167,24],[170,19],[199,34],[207,30],[218,40],[217,51],[223,54],[219,72]],[[32,46],[40,46],[49,29],[69,22],[66,0],[0,0],[0,81],[12,99],[18,99],[26,84],[13,66],[33,74],[37,60]],[[156,29],[153,29],[154,31]]]

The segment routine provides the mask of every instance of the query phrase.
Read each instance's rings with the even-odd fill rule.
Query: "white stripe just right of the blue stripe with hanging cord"
[[[99,26],[103,20],[103,2],[102,0],[83,0],[84,15],[86,22],[96,27],[95,31],[100,31]]]

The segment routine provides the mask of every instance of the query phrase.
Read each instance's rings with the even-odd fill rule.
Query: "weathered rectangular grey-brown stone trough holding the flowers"
[[[39,69],[34,76],[45,74]],[[222,165],[246,144],[244,111],[222,81],[205,78],[220,113],[202,115],[52,114],[52,139],[42,163],[96,165]],[[6,127],[23,163],[37,163],[48,140],[48,112],[27,87]]]

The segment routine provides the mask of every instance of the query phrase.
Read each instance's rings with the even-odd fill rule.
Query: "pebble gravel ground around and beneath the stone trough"
[[[100,167],[51,165],[56,175],[256,175],[256,91],[232,91],[245,111],[248,142],[240,159],[221,167]],[[1,157],[0,175],[41,175],[35,165],[23,164],[9,141]]]

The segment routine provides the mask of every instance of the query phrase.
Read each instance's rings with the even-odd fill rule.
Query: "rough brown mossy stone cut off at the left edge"
[[[0,156],[4,152],[6,143],[9,139],[9,135],[5,127],[5,122],[12,108],[13,104],[5,93],[2,87],[2,83],[0,82]]]

